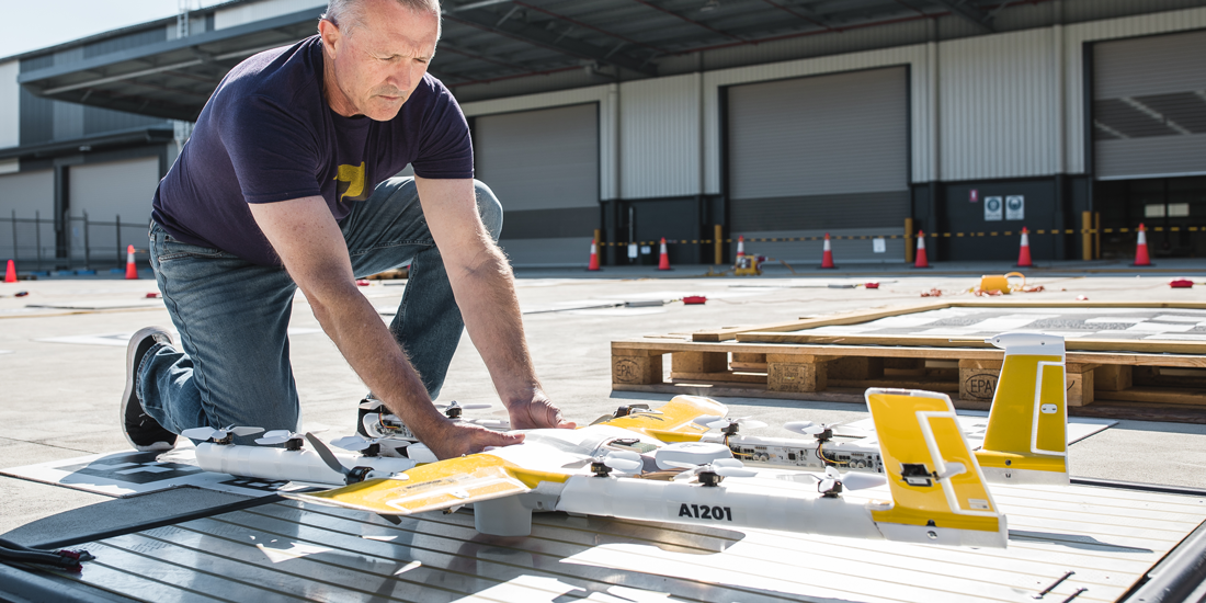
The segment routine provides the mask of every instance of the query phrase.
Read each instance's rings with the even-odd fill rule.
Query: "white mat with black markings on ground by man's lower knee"
[[[293,491],[287,481],[257,480],[197,467],[195,449],[181,445],[166,453],[110,452],[0,469],[0,474],[117,498],[192,486],[250,497]]]

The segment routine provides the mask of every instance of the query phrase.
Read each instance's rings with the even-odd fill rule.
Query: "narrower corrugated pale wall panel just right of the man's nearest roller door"
[[[699,74],[621,86],[621,197],[699,194]]]

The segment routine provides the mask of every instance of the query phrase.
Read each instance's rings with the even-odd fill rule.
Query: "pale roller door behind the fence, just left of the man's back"
[[[127,245],[147,246],[151,201],[159,186],[159,158],[72,165],[70,178],[71,257],[84,257],[83,215],[88,213],[92,260],[119,260]],[[121,216],[122,234],[117,235]],[[115,259],[117,258],[117,259]],[[119,263],[119,262],[118,262]]]

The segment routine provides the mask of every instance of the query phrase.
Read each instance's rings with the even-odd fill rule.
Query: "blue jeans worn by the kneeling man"
[[[478,212],[498,240],[503,209],[474,181]],[[415,182],[390,178],[340,224],[357,277],[410,263],[390,332],[434,399],[464,322]],[[297,385],[286,329],[297,285],[280,267],[187,245],[151,224],[151,265],[182,350],[153,346],[136,375],[142,408],[174,433],[229,425],[297,429]],[[350,406],[351,408],[351,406]]]

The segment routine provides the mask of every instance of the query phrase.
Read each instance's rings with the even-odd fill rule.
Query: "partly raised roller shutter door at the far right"
[[[1206,31],[1094,46],[1099,180],[1206,175]]]

